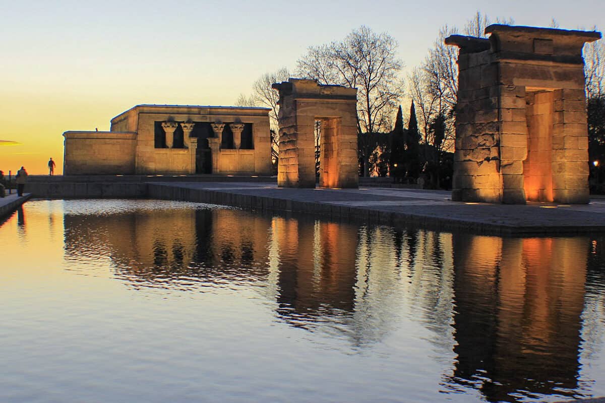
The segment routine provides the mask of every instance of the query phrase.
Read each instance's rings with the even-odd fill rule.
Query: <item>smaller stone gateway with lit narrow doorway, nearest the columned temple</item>
[[[280,92],[280,187],[315,187],[315,121],[322,122],[319,185],[359,186],[357,89],[290,79]]]

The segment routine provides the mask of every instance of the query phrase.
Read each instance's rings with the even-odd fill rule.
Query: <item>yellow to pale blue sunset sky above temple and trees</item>
[[[407,75],[442,25],[477,10],[517,25],[603,30],[601,0],[407,3],[267,0],[0,1],[0,170],[62,173],[68,130],[109,130],[142,103],[233,105],[261,74],[368,25],[399,41]]]

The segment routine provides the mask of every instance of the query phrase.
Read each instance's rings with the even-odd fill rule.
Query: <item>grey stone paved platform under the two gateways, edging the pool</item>
[[[244,208],[299,211],[345,218],[373,218],[384,224],[421,225],[433,229],[473,230],[488,234],[605,233],[605,198],[587,205],[530,202],[495,205],[453,202],[451,193],[434,190],[284,189],[275,183],[181,182],[162,187],[198,190],[191,201],[212,201]],[[180,199],[185,199],[180,192]],[[241,197],[243,196],[243,197]],[[249,196],[249,197],[246,197]],[[193,198],[191,196],[189,199]],[[286,201],[286,204],[280,201]],[[285,207],[284,207],[285,206]]]

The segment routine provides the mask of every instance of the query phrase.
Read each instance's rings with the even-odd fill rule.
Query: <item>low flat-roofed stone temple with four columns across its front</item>
[[[64,175],[270,175],[269,109],[137,105],[109,132],[67,131]]]

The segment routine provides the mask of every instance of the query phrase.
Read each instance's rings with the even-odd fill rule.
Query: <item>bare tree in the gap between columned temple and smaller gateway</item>
[[[252,94],[240,94],[235,101],[236,106],[263,106],[271,109],[269,111],[269,123],[271,127],[271,152],[272,159],[276,161],[280,153],[280,138],[278,127],[278,112],[280,106],[277,102],[280,100],[280,94],[271,88],[273,83],[281,83],[290,78],[290,71],[282,67],[273,73],[265,73],[252,83]]]

